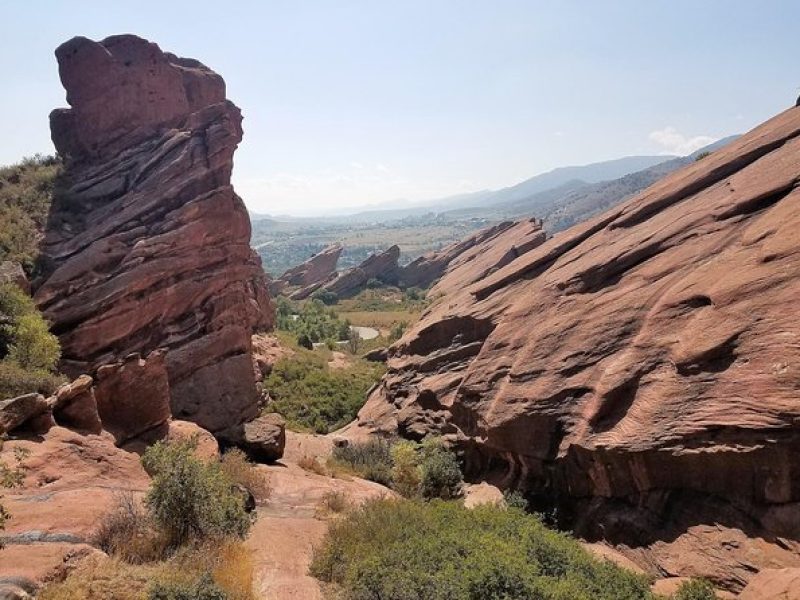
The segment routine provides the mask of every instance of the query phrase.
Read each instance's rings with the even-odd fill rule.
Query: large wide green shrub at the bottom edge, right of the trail
[[[346,600],[652,598],[646,578],[593,558],[532,515],[439,500],[365,503],[331,524],[311,574]]]

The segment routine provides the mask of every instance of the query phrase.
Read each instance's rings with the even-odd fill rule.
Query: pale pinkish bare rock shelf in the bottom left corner
[[[15,465],[24,448],[21,487],[3,491],[11,514],[0,532],[0,581],[33,590],[75,559],[94,551],[99,517],[121,493],[143,494],[149,478],[136,454],[117,448],[106,432],[82,435],[52,427],[42,436],[5,442],[0,460]]]

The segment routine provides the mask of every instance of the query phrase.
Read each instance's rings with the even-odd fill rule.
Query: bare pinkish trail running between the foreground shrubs
[[[359,503],[384,494],[387,488],[363,479],[334,479],[298,466],[303,456],[325,463],[333,442],[327,436],[287,432],[286,451],[275,465],[262,466],[269,473],[272,494],[258,507],[258,520],[247,546],[252,550],[259,597],[264,600],[318,600],[322,590],[308,566],[331,517],[320,510],[329,492],[342,492]]]

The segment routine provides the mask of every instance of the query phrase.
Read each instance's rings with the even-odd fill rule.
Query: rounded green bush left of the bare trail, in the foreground
[[[171,543],[244,537],[250,518],[233,482],[217,461],[195,457],[195,442],[157,442],[142,457],[153,478],[145,503]]]

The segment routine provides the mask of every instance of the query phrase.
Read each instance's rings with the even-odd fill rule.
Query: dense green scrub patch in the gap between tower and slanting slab
[[[279,359],[264,380],[273,401],[269,412],[283,415],[291,429],[328,433],[355,419],[383,366],[359,360],[331,369],[315,352]]]

